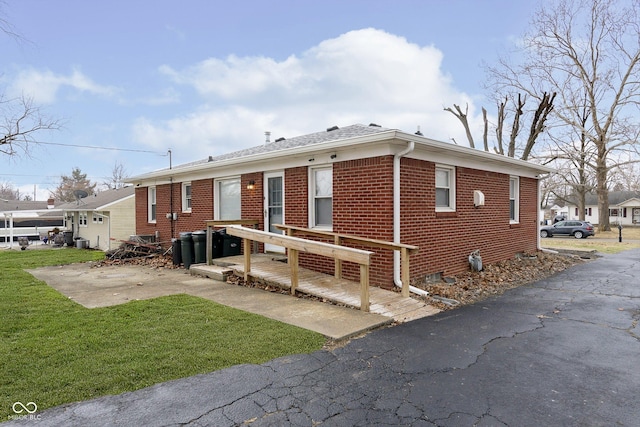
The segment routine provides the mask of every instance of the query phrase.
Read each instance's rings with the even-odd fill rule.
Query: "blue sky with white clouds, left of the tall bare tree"
[[[63,128],[0,181],[46,199],[79,167],[104,182],[333,125],[378,123],[458,143],[445,106],[491,101],[483,61],[527,27],[516,0],[7,0],[0,89]],[[479,128],[478,128],[479,129]],[[97,146],[95,149],[70,147]],[[126,151],[129,150],[129,151]]]

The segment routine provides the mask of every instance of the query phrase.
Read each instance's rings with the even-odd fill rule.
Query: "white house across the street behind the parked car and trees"
[[[577,204],[567,204],[569,216],[567,219],[578,219]],[[598,195],[589,193],[585,197],[584,220],[592,224],[600,223],[598,211]],[[609,223],[612,225],[640,225],[640,192],[639,191],[610,191],[609,192]]]

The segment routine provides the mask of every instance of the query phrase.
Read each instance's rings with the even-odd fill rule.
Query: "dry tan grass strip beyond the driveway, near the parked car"
[[[640,227],[623,228],[622,242],[618,242],[618,229],[613,225],[611,229],[612,231],[599,231],[596,229],[596,235],[586,239],[564,236],[540,238],[540,246],[549,249],[598,251],[609,254],[640,248]]]

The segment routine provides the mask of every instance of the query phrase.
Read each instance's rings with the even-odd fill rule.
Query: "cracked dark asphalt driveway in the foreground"
[[[39,412],[48,426],[637,426],[640,250],[333,351]],[[32,425],[33,420],[7,425]]]

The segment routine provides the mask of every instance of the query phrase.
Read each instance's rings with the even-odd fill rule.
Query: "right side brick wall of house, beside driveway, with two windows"
[[[537,181],[520,178],[520,221],[509,223],[509,175],[456,168],[456,211],[435,212],[435,164],[402,159],[401,241],[420,247],[411,257],[412,279],[468,271],[469,254],[480,249],[483,263],[532,252],[537,245]],[[474,207],[473,191],[485,205]]]

